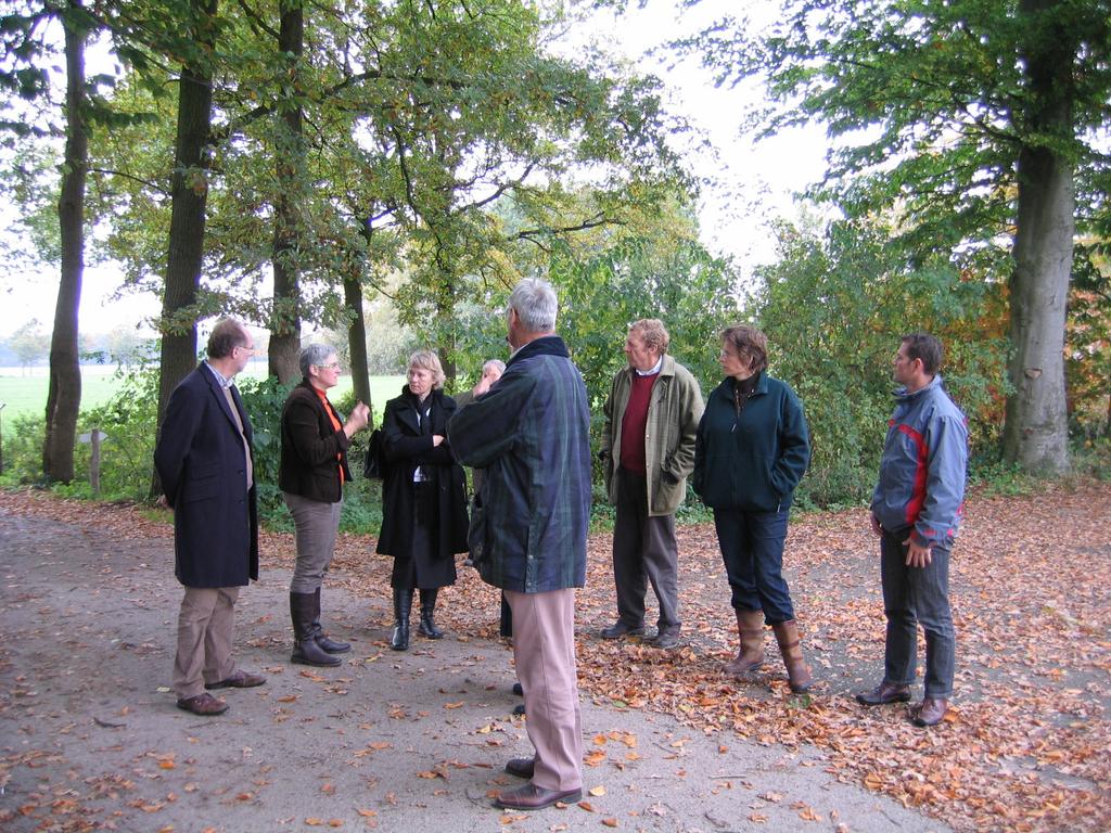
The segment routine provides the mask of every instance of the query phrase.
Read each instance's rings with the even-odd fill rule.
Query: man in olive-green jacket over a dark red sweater
[[[675,510],[694,468],[702,392],[694,377],[667,354],[663,322],[642,319],[629,328],[629,364],[613,377],[605,401],[600,454],[605,489],[617,506],[613,583],[618,621],[604,639],[644,632],[648,582],[660,605],[654,644],[679,644],[679,546]]]

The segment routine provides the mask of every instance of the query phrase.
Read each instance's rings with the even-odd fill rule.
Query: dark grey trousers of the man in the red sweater
[[[661,631],[679,628],[679,546],[675,516],[648,514],[643,474],[618,469],[617,519],[613,522],[613,583],[618,616],[630,628],[644,624],[648,582],[660,603]]]

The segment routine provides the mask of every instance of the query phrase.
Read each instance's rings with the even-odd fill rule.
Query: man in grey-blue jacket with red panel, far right
[[[949,556],[963,514],[968,464],[964,414],[941,387],[941,343],[902,338],[894,359],[895,410],[872,494],[888,619],[883,681],[857,695],[863,705],[905,703],[915,676],[918,624],[925,632],[925,692],[911,707],[919,726],[940,723],[953,692],[955,638],[949,611]]]

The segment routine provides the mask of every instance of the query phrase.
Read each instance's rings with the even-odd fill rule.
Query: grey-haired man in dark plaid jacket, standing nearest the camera
[[[498,796],[509,810],[582,797],[582,725],[574,659],[574,589],[587,578],[590,410],[582,377],[556,335],[556,292],[517,284],[506,373],[448,424],[452,452],[484,469],[472,506],[474,566],[513,613],[513,656],[524,688],[533,757],[506,771],[530,779]]]

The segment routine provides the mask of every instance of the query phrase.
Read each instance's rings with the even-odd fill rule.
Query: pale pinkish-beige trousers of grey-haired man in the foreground
[[[574,662],[574,589],[506,591],[513,612],[513,659],[524,689],[524,727],[536,747],[532,783],[582,786],[582,719]]]

